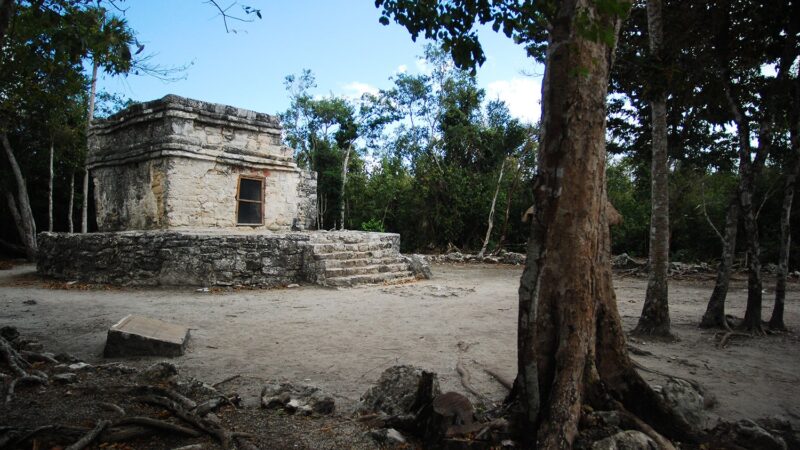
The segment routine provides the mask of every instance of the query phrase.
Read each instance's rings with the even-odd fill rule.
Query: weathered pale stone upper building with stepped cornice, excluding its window
[[[311,229],[316,174],[280,139],[273,116],[174,95],[95,122],[87,162],[98,228]],[[240,176],[263,180],[263,224],[237,226]]]

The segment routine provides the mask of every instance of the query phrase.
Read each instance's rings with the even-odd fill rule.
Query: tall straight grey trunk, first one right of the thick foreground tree
[[[647,0],[647,31],[650,52],[657,64],[663,43],[661,0]],[[669,268],[669,155],[667,153],[667,95],[664,77],[654,80],[656,93],[650,101],[653,126],[653,156],[650,215],[650,272],[647,280],[642,315],[634,333],[670,336],[669,295],[667,270]]]

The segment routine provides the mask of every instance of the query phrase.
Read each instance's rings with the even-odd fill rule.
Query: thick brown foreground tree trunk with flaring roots
[[[669,437],[691,440],[689,425],[627,355],[606,217],[605,100],[614,46],[577,29],[583,14],[601,29],[618,32],[621,23],[588,0],[559,2],[551,22],[514,392],[529,429],[538,424],[538,448],[570,448],[584,404],[622,406]]]

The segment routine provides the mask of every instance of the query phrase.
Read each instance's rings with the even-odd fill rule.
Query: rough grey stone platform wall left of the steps
[[[37,270],[134,286],[280,286],[316,279],[309,234],[40,233]]]

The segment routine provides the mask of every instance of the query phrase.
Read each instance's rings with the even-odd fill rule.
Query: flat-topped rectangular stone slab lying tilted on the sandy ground
[[[186,326],[130,314],[108,329],[103,356],[181,356],[188,341]]]

